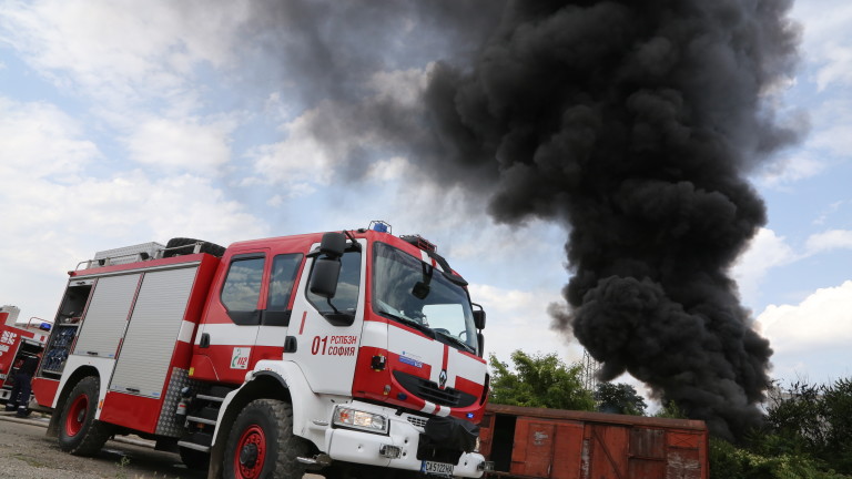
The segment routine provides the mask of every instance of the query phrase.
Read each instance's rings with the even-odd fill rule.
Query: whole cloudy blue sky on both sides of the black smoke
[[[547,315],[568,279],[566,232],[495,224],[481,201],[425,181],[368,128],[348,143],[318,141],[315,122],[357,111],[300,94],[298,55],[263,47],[250,16],[240,1],[0,2],[0,304],[51,318],[67,272],[101,249],[385,220],[435,242],[470,281],[489,314],[489,353],[579,359]],[[799,1],[793,18],[801,62],[777,101],[810,131],[751,172],[769,223],[732,274],[772,342],[771,376],[825,381],[852,376],[852,4]],[[359,91],[414,101],[429,62],[450,54],[450,40],[426,30],[406,18],[343,45],[389,52]],[[413,38],[418,47],[405,48]],[[338,171],[353,146],[375,155],[359,182]]]

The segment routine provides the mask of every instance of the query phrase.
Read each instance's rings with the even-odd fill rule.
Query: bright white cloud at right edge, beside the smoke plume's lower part
[[[852,342],[852,281],[818,289],[799,305],[770,305],[758,316],[762,334],[775,350],[787,354],[848,348]]]

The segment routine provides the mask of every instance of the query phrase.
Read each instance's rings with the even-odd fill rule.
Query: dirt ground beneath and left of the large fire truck
[[[0,478],[16,479],[195,479],[176,453],[155,451],[149,441],[108,441],[91,458],[59,449],[55,438],[44,436],[48,419],[38,414],[23,421],[0,414]],[[307,475],[305,479],[320,479]]]

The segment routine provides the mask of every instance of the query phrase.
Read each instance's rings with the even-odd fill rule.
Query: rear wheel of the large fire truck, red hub
[[[112,436],[112,426],[94,418],[101,383],[87,376],[71,389],[59,417],[59,448],[75,456],[92,456]]]

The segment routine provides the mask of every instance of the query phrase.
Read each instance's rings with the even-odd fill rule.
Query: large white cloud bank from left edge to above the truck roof
[[[52,314],[33,285],[62,279],[97,251],[173,236],[230,243],[268,235],[210,179],[113,171],[55,105],[0,98],[0,292],[26,314]]]

